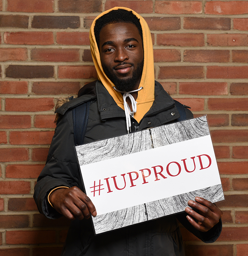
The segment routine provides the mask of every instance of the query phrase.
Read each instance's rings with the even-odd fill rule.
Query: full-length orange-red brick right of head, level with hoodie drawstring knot
[[[179,84],[180,94],[191,95],[226,95],[227,83],[188,82]]]

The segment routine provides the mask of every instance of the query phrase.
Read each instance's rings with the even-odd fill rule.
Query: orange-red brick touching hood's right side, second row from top
[[[179,17],[146,17],[150,30],[178,30],[181,28]]]

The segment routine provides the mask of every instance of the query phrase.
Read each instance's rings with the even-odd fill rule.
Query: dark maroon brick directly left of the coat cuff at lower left
[[[33,198],[9,198],[9,211],[37,211]]]

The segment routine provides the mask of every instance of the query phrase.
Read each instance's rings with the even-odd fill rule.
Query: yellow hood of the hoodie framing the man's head
[[[116,104],[124,110],[122,94],[113,89],[114,84],[109,80],[109,78],[105,75],[103,71],[101,59],[100,59],[100,53],[98,50],[98,46],[97,46],[97,42],[94,34],[94,27],[95,27],[96,20],[99,19],[104,14],[116,9],[125,9],[128,11],[132,11],[133,14],[137,16],[138,19],[140,19],[140,24],[142,27],[143,47],[144,47],[144,66],[143,66],[143,72],[142,72],[139,88],[143,87],[143,89],[138,92],[138,97],[136,99],[137,112],[134,114],[134,118],[139,122],[142,119],[142,117],[146,114],[146,112],[150,109],[154,101],[153,48],[152,48],[151,33],[146,21],[140,15],[138,15],[138,13],[126,7],[114,7],[110,10],[104,11],[93,21],[91,25],[91,29],[90,29],[91,54],[97,70],[98,79],[102,82],[104,87],[108,90],[109,94],[113,97]]]

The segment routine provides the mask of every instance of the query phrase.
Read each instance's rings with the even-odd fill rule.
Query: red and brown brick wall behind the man
[[[0,0],[0,254],[59,255],[68,221],[32,199],[59,96],[93,81],[89,27],[127,6],[147,21],[155,77],[195,116],[208,114],[224,202],[223,231],[205,245],[183,229],[187,255],[248,255],[248,1]]]

